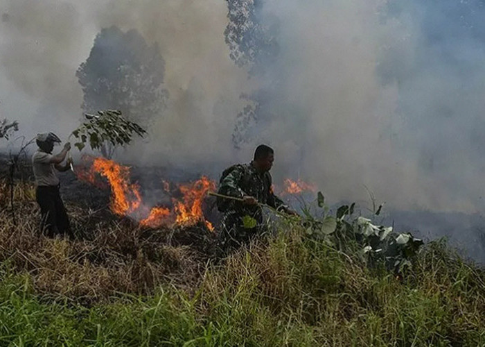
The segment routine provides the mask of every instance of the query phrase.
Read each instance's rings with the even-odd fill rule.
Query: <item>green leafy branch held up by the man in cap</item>
[[[118,110],[98,111],[98,115],[86,115],[88,121],[72,132],[78,139],[74,144],[79,151],[86,144],[91,149],[98,150],[105,143],[112,146],[124,146],[130,144],[133,135],[143,137],[146,131],[138,124],[127,121]]]

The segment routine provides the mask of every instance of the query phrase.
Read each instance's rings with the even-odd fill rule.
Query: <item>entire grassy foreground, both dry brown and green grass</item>
[[[485,273],[443,242],[399,280],[288,221],[213,264],[204,223],[149,230],[69,205],[91,237],[46,239],[31,196],[18,197],[19,226],[0,212],[0,344],[485,344]]]

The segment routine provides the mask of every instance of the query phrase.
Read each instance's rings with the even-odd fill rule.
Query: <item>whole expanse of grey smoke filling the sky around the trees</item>
[[[330,201],[368,201],[368,187],[394,208],[484,207],[484,1],[259,3],[278,53],[248,78],[224,42],[224,1],[1,0],[1,115],[67,135],[94,37],[134,28],[159,44],[170,98],[150,137],[118,159],[219,169],[265,142],[275,180],[313,181]],[[236,151],[240,95],[265,90],[257,136]]]

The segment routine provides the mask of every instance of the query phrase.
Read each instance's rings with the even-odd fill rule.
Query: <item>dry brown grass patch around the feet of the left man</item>
[[[6,189],[0,185],[2,196]],[[78,239],[50,239],[37,230],[33,194],[28,183],[15,186],[17,226],[6,201],[1,204],[0,262],[27,271],[37,292],[91,303],[119,293],[151,294],[164,282],[197,285],[209,256],[204,246],[212,240],[202,226],[143,230],[105,211],[93,213],[68,204]]]

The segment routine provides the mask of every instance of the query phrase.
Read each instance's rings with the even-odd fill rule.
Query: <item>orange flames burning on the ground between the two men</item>
[[[204,219],[202,204],[209,190],[215,189],[215,183],[202,176],[200,180],[185,185],[179,185],[182,198],[172,198],[173,209],[166,207],[148,208],[143,204],[139,186],[130,183],[130,168],[107,160],[95,158],[87,172],[78,170],[78,178],[97,184],[96,174],[107,178],[111,187],[111,210],[122,216],[140,220],[141,226],[158,228],[175,223],[180,226],[192,226],[200,221],[213,230],[209,221]],[[170,183],[162,180],[164,191],[170,192]]]

